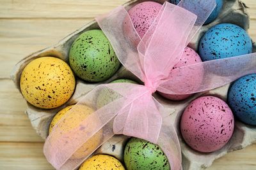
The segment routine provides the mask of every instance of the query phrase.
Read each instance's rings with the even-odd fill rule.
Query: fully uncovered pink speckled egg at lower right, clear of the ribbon
[[[180,121],[180,132],[186,143],[199,152],[222,148],[234,131],[234,116],[227,103],[213,96],[192,101]]]

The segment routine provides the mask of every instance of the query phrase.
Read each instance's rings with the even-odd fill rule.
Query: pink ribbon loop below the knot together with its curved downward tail
[[[166,109],[149,91],[133,96],[127,103],[129,104],[115,117],[115,133],[134,136],[159,145],[166,154],[171,168],[180,169],[179,139]]]

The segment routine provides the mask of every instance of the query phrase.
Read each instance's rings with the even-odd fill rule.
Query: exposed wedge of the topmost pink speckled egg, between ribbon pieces
[[[157,17],[162,5],[155,2],[146,1],[132,7],[128,11],[132,24],[138,32],[140,38],[143,38],[144,34],[148,31],[150,25]]]

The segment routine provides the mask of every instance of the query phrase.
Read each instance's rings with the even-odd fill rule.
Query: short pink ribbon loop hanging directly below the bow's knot
[[[156,143],[162,117],[150,91],[145,89],[144,93],[128,99],[126,103],[129,105],[125,106],[115,117],[115,134],[125,134]]]

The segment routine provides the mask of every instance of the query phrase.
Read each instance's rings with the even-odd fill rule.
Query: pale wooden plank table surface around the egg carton
[[[0,0],[0,169],[53,169],[42,153],[44,141],[24,114],[26,102],[10,72],[20,59],[58,40],[127,0]],[[250,36],[256,40],[256,1],[250,7]],[[256,169],[256,145],[228,153],[212,169]]]

